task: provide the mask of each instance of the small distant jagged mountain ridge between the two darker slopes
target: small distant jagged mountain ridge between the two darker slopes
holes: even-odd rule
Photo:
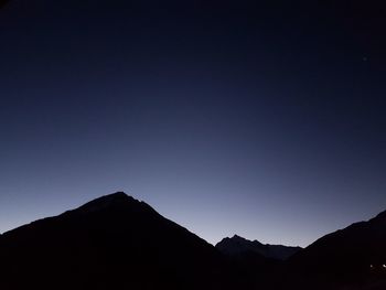
[[[240,256],[246,253],[255,253],[266,258],[286,260],[293,254],[301,250],[301,247],[288,247],[282,245],[261,244],[258,240],[248,240],[234,235],[232,238],[224,238],[216,246],[218,250],[229,256]]]

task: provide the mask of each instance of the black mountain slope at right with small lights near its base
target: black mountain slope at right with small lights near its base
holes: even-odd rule
[[[386,212],[325,235],[289,264],[304,288],[318,282],[321,289],[386,289]]]

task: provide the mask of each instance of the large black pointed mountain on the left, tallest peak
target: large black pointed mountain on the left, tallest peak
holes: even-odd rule
[[[125,193],[0,236],[1,289],[240,289],[210,244]]]

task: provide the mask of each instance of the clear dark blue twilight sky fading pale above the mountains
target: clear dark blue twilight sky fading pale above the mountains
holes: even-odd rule
[[[212,244],[386,210],[380,2],[10,1],[0,232],[116,191]]]

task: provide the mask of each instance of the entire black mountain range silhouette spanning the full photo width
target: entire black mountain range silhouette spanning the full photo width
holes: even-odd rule
[[[216,247],[118,192],[0,235],[0,288],[386,289],[386,212],[309,247]]]

